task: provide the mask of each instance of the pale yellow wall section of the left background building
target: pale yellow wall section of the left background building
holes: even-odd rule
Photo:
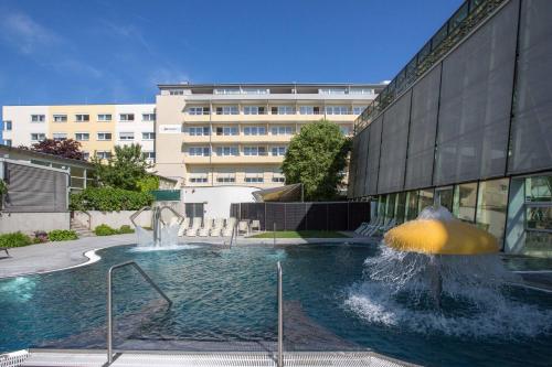
[[[76,122],[75,115],[87,114],[88,122]],[[110,114],[112,121],[98,121],[98,114]],[[67,115],[66,122],[54,122],[54,115]],[[82,150],[94,155],[95,151],[113,151],[116,142],[115,125],[117,121],[115,105],[75,105],[75,106],[50,106],[47,120],[47,134],[53,137],[55,132],[67,133],[67,139],[75,139],[75,132],[88,132],[89,140],[81,141]],[[110,141],[98,141],[98,132],[110,132]]]

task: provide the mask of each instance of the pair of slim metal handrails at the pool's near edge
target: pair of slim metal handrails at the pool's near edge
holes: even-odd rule
[[[172,305],[172,301],[169,296],[151,280],[151,278],[144,271],[142,268],[135,261],[127,261],[109,268],[107,272],[107,364],[113,363],[113,273],[115,270],[134,267],[140,276],[169,303],[169,307]],[[282,265],[278,261],[276,265],[276,274],[278,278],[277,285],[277,302],[278,302],[278,352],[276,365],[277,367],[284,367],[284,296],[283,296],[283,281],[282,281]]]

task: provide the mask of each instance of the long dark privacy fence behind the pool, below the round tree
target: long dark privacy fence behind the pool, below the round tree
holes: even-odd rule
[[[370,220],[368,202],[234,203],[230,215],[259,220],[262,230],[354,230]]]

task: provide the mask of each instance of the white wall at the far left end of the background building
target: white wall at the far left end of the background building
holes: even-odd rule
[[[44,115],[44,122],[31,122],[31,115]],[[50,133],[47,106],[3,106],[2,120],[11,121],[12,130],[2,131],[3,140],[11,140],[13,147],[34,143],[31,141],[31,133]]]

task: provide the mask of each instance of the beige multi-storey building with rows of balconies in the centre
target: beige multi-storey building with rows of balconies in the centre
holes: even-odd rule
[[[159,85],[156,171],[182,186],[285,184],[287,145],[322,118],[352,134],[384,84]]]

